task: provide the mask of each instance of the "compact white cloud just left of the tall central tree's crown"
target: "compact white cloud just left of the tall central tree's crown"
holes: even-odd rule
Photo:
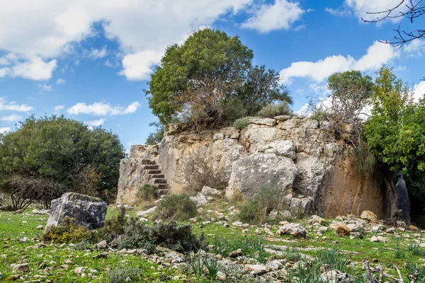
[[[135,81],[149,79],[152,66],[158,64],[164,52],[142,51],[135,54],[125,55],[123,58],[123,70],[118,74]]]

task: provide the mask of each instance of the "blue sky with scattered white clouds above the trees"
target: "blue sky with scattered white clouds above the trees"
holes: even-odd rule
[[[424,28],[425,16],[363,23],[399,0],[0,0],[0,131],[29,115],[66,115],[143,144],[154,116],[144,89],[167,45],[205,26],[239,35],[254,64],[280,72],[294,111],[326,96],[327,77],[382,64],[425,93],[425,39],[378,40]],[[401,21],[400,21],[401,20]]]

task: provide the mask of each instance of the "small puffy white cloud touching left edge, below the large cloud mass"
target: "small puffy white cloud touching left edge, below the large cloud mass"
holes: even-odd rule
[[[0,78],[10,76],[12,78],[21,77],[25,79],[32,79],[34,81],[45,81],[52,78],[52,72],[57,67],[56,59],[52,59],[50,62],[44,62],[40,57],[33,57],[32,59],[24,62],[9,61],[8,63],[13,64],[13,66],[1,68]]]

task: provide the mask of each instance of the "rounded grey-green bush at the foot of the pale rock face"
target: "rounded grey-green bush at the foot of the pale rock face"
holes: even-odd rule
[[[248,200],[240,207],[239,220],[250,224],[263,224],[278,222],[283,219],[283,216],[277,216],[276,219],[270,219],[268,214],[273,209],[281,212],[285,209],[284,191],[281,188],[263,188],[254,199]]]

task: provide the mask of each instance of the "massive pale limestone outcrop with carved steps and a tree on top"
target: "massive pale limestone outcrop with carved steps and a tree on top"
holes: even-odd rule
[[[244,129],[226,127],[198,134],[171,125],[157,156],[152,151],[132,146],[130,158],[121,162],[120,197],[131,199],[133,184],[145,182],[141,161],[148,157],[157,162],[171,192],[178,191],[185,186],[179,175],[182,164],[200,153],[215,171],[227,176],[226,197],[253,197],[263,187],[278,187],[293,215],[317,212],[332,217],[370,210],[380,218],[387,216],[380,178],[356,173],[353,149],[336,140],[326,122],[250,117]]]

